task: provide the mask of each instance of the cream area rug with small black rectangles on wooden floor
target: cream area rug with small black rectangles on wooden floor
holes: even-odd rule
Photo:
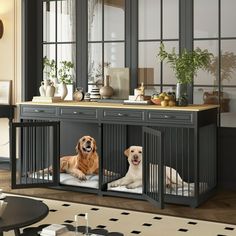
[[[120,232],[121,235],[126,236],[236,235],[236,225],[193,220],[181,217],[172,217],[160,214],[142,213],[94,205],[78,204],[73,202],[56,201],[50,199],[34,199],[43,201],[48,205],[50,211],[48,216],[44,220],[38,222],[32,227],[37,227],[44,224],[66,224],[73,228],[75,225],[75,215],[78,215],[79,225],[84,226],[86,225],[84,216],[85,213],[88,213],[89,226],[91,229],[103,229],[104,232]],[[7,232],[4,234],[4,236],[14,236],[14,234],[13,232]]]

